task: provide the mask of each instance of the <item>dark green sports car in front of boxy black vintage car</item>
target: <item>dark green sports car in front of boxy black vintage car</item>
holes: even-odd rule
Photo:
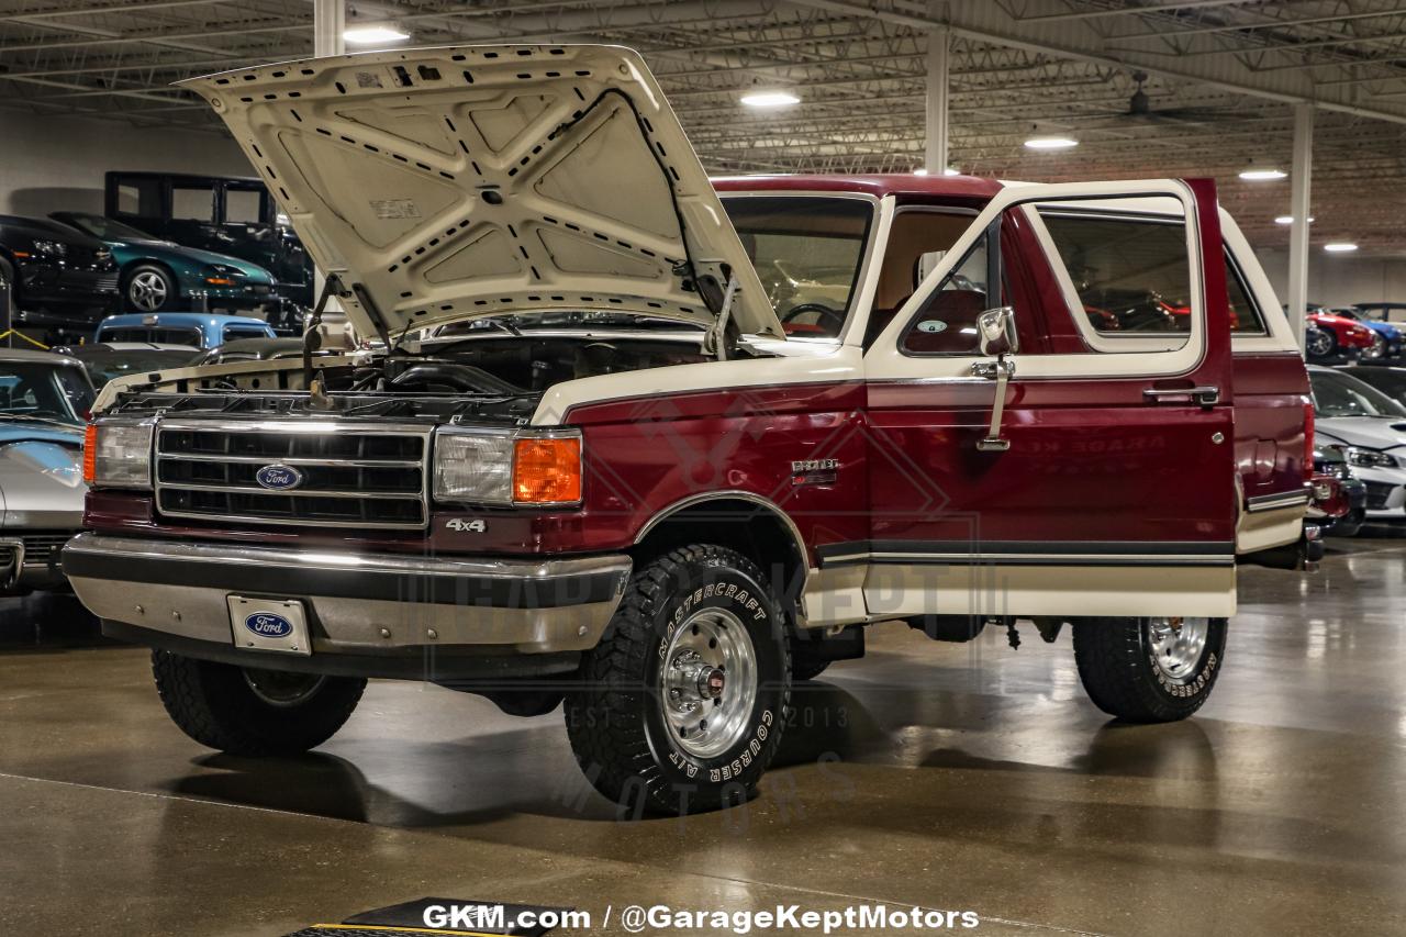
[[[209,250],[183,248],[120,221],[82,211],[49,215],[107,243],[121,270],[122,307],[129,312],[257,310],[281,312],[283,298],[271,273],[256,263]]]

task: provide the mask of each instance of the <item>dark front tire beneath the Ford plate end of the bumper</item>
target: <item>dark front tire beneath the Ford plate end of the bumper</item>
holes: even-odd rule
[[[366,681],[249,670],[152,651],[156,689],[181,732],[236,756],[316,748],[350,719]]]

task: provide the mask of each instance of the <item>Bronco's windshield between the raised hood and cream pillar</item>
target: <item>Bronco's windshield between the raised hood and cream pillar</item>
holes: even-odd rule
[[[853,305],[873,208],[859,198],[723,198],[756,276],[794,338],[838,338]]]

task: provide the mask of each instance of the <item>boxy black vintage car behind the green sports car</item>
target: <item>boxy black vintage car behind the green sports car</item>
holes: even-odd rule
[[[110,172],[104,214],[187,248],[257,263],[298,305],[312,304],[312,260],[257,179]],[[270,317],[273,321],[273,317]],[[274,324],[277,328],[277,324]]]

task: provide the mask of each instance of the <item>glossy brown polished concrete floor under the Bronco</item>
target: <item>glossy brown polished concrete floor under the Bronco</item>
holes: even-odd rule
[[[1178,725],[1109,723],[1067,636],[879,629],[797,691],[759,799],[686,820],[617,822],[560,712],[413,684],[374,682],[305,758],[212,754],[166,719],[143,651],[84,640],[62,601],[10,602],[0,934],[285,934],[426,895],[576,906],[610,934],[657,903],[1406,933],[1406,539],[1376,533],[1316,574],[1243,570],[1220,684]]]

